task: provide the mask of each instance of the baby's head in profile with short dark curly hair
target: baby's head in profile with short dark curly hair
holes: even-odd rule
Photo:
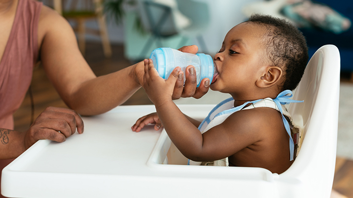
[[[253,15],[225,36],[214,57],[218,76],[211,89],[238,96],[268,93],[269,89],[263,88],[273,90],[271,95],[293,90],[308,59],[306,40],[294,25],[270,16]]]

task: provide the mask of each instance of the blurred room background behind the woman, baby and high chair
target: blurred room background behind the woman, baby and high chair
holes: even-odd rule
[[[158,47],[196,44],[214,56],[226,33],[252,13],[286,18],[307,38],[309,56],[325,44],[341,56],[337,160],[332,194],[353,198],[353,2],[351,0],[43,0],[74,28],[79,48],[97,76],[149,58]],[[337,65],[338,66],[338,65]],[[32,95],[16,112],[22,131],[47,106],[66,107],[44,70],[33,74]],[[217,104],[229,95],[209,91],[201,99],[176,103]],[[124,103],[152,104],[143,89]],[[28,112],[32,112],[29,114]]]

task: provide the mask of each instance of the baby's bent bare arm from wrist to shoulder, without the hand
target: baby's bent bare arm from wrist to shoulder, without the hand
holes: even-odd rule
[[[266,134],[262,133],[262,127],[268,118],[257,112],[256,109],[236,112],[220,125],[200,134],[174,103],[157,108],[170,139],[185,157],[195,161],[226,158],[264,140]]]

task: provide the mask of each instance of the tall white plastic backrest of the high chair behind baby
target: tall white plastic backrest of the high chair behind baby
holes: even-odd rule
[[[293,188],[297,188],[294,192],[297,196],[293,197],[330,197],[336,159],[339,83],[339,51],[334,45],[322,46],[309,60],[293,94],[293,99],[304,102],[288,107],[294,122],[303,129],[297,158],[279,176],[279,180],[293,179]]]

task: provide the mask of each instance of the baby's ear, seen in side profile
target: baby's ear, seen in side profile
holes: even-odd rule
[[[276,66],[265,67],[264,73],[256,81],[256,86],[261,88],[271,87],[280,81],[282,77],[282,69]]]

